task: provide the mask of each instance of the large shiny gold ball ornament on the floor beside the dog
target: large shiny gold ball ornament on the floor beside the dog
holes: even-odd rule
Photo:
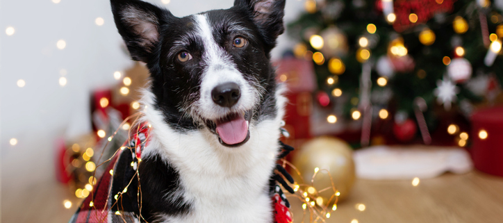
[[[302,145],[300,151],[293,158],[293,165],[297,167],[302,176],[292,175],[297,183],[302,184],[304,182],[306,185],[311,185],[315,168],[318,167],[319,171],[313,183],[314,188],[318,191],[332,187],[329,174],[325,171],[328,170],[336,190],[340,192],[339,200],[345,199],[349,195],[355,179],[352,153],[349,144],[339,138],[320,137],[309,140]],[[301,177],[304,181],[302,181]],[[306,188],[303,188],[303,190],[306,190]],[[319,196],[323,197],[324,202],[327,202],[332,195],[333,190],[331,189],[319,194]],[[331,203],[333,201],[335,201],[335,197]]]

